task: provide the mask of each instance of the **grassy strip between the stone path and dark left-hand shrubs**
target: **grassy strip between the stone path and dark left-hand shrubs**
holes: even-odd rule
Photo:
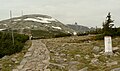
[[[27,52],[27,49],[31,46],[31,41],[28,40],[25,43],[25,46],[23,50],[19,53],[7,56],[5,59],[0,59],[0,64],[2,65],[2,68],[0,71],[12,71],[12,69],[16,68],[17,65],[19,65],[20,61],[23,59],[24,54]],[[17,63],[13,62],[11,59],[16,58]]]

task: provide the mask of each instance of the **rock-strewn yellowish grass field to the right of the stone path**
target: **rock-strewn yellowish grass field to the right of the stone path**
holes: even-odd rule
[[[91,36],[72,36],[72,37],[62,37],[62,38],[52,38],[43,39],[43,43],[46,44],[47,48],[50,50],[51,63],[56,63],[64,65],[65,69],[63,71],[68,71],[72,61],[77,61],[79,64],[74,64],[77,69],[80,70],[84,67],[88,67],[88,71],[110,71],[113,68],[120,67],[120,55],[107,57],[105,55],[99,54],[97,57],[99,64],[90,64],[94,57],[93,47],[98,46],[104,52],[104,41],[103,40],[93,40]],[[113,47],[120,48],[120,37],[113,39]],[[120,53],[120,52],[119,52]],[[56,55],[57,54],[57,55]],[[63,55],[64,54],[64,55]],[[80,57],[75,57],[80,55]],[[85,56],[88,55],[88,59]],[[66,59],[66,61],[58,61],[57,59]],[[112,62],[117,61],[117,65],[106,66],[106,61]],[[50,66],[51,71],[62,71],[55,66]]]

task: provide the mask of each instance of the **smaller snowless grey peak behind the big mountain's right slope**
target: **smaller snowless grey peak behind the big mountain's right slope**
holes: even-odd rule
[[[82,25],[77,25],[77,24],[67,24],[67,26],[73,30],[75,30],[76,32],[79,33],[84,33],[87,31],[90,31],[90,29],[86,26],[82,26]]]

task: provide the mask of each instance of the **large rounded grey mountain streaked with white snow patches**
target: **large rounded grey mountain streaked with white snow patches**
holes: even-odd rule
[[[73,29],[48,15],[31,14],[0,21],[0,29],[42,30],[47,32],[72,33]]]

